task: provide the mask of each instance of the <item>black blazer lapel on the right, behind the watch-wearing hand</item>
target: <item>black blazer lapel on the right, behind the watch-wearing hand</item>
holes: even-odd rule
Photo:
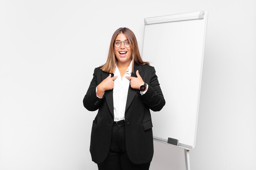
[[[131,74],[131,77],[137,77],[137,75],[136,75],[137,70],[139,70],[139,75],[143,79],[144,71],[142,71],[141,66],[137,65],[137,64],[134,64],[134,73]],[[128,107],[130,106],[130,104],[132,103],[132,100],[137,93],[138,93],[138,90],[131,88],[131,85],[129,85],[125,112],[128,109]]]

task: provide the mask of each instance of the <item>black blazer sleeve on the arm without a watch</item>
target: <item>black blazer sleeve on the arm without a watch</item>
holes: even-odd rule
[[[97,94],[96,94],[97,86],[98,86],[98,83],[97,83],[97,68],[95,68],[94,73],[93,73],[92,81],[90,83],[90,86],[87,90],[87,93],[86,93],[85,97],[83,98],[83,106],[89,111],[97,110],[99,108],[99,106],[101,105],[101,101],[105,97],[105,93],[102,96],[102,98],[97,97]]]

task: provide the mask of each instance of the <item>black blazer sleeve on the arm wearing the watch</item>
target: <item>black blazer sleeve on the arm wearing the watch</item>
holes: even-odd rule
[[[152,67],[150,82],[146,83],[148,90],[144,95],[141,95],[141,99],[151,110],[160,111],[165,105],[165,100],[154,67]]]

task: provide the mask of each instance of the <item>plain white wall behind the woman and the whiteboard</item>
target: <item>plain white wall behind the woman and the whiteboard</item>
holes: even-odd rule
[[[112,33],[144,18],[208,10],[191,170],[256,168],[255,0],[2,0],[0,169],[97,170],[89,153],[96,112],[82,99]],[[184,152],[155,142],[151,170],[184,169]]]

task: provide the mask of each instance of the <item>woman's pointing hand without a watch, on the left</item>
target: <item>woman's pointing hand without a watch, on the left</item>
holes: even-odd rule
[[[109,76],[97,86],[97,96],[102,97],[105,91],[112,90],[116,78],[117,76],[111,77],[111,74],[109,74]]]

